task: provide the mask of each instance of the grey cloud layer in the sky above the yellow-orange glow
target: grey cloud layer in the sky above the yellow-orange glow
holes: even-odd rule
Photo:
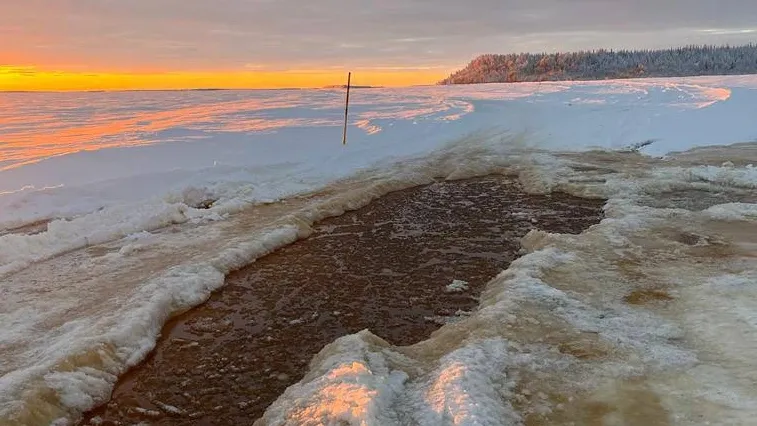
[[[750,41],[757,1],[26,0],[0,16],[0,28],[18,22],[115,63],[423,66],[487,51]]]

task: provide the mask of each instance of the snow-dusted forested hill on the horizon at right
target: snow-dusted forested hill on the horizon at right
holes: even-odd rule
[[[439,84],[757,74],[757,45],[482,55]]]

